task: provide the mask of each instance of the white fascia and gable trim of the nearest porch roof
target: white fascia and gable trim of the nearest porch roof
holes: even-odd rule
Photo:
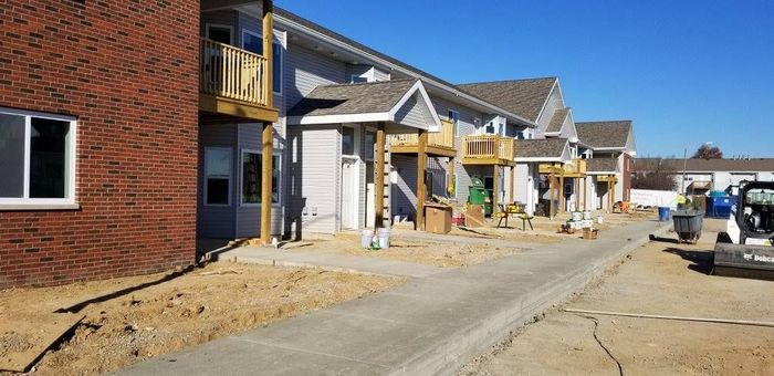
[[[432,124],[427,124],[425,126],[415,126],[402,124],[400,121],[396,119],[396,115],[400,108],[406,105],[415,94],[417,94],[417,101],[425,102],[428,108],[430,108],[430,115],[432,116]],[[441,118],[438,117],[438,113],[432,106],[430,96],[425,90],[421,81],[417,81],[405,94],[400,97],[393,108],[387,112],[375,112],[375,113],[357,113],[357,114],[335,114],[335,115],[304,115],[304,116],[289,116],[287,125],[320,125],[320,124],[342,124],[342,123],[390,123],[393,125],[404,126],[405,128],[414,128],[429,132],[440,132],[443,127]],[[396,130],[398,132],[398,130]]]

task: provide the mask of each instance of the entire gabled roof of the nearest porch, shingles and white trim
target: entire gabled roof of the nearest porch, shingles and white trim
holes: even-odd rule
[[[422,82],[417,79],[321,85],[287,112],[287,124],[401,123],[396,115],[415,95],[432,108]],[[423,128],[440,128],[436,111],[429,113],[431,124]]]

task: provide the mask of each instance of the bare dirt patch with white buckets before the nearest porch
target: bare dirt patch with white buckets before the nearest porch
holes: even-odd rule
[[[358,257],[384,258],[436,265],[440,268],[460,268],[502,258],[520,252],[517,248],[501,248],[491,244],[457,244],[431,240],[400,239],[393,236],[389,249],[367,250],[360,248],[360,234],[342,232],[330,240],[290,243],[289,251],[337,252]]]

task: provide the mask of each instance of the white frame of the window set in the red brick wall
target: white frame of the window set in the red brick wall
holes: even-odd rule
[[[70,210],[79,209],[75,201],[75,175],[77,168],[77,119],[73,116],[39,113],[34,111],[0,107],[0,113],[24,116],[24,176],[21,198],[0,198],[0,210]],[[64,198],[30,198],[30,157],[32,117],[70,123],[69,139],[65,145]]]

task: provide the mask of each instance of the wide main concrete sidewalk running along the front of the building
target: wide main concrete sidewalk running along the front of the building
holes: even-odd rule
[[[119,375],[450,374],[668,226],[638,222],[154,358]]]

